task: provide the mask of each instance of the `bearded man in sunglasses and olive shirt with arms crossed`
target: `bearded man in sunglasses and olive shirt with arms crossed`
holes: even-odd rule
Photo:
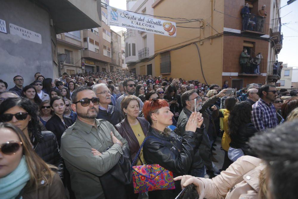
[[[128,148],[128,143],[111,123],[95,119],[99,99],[90,87],[78,87],[72,93],[72,102],[77,120],[61,138],[61,155],[72,190],[77,199],[105,198],[99,177],[116,165],[123,154],[122,146]]]

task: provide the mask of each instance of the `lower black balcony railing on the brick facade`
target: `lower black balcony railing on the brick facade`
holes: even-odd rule
[[[240,57],[240,72],[238,75],[257,76],[262,75],[264,59],[256,57]]]

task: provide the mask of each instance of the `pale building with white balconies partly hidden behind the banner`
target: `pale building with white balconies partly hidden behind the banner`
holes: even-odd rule
[[[153,15],[154,0],[127,0],[127,10]],[[127,29],[124,33],[125,63],[128,70],[140,75],[155,74],[154,34]]]

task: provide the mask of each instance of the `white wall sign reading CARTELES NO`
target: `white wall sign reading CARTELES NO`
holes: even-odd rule
[[[23,39],[33,41],[35,43],[41,44],[41,34],[35,33],[26,28],[19,27],[15,24],[9,24],[10,34],[20,36]]]

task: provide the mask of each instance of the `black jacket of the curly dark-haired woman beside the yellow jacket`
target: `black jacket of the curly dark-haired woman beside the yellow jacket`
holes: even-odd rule
[[[235,149],[242,149],[244,155],[251,155],[249,153],[249,146],[246,144],[249,138],[252,137],[257,132],[257,129],[252,123],[248,123],[243,127],[238,129],[237,134],[231,134],[230,146]]]

